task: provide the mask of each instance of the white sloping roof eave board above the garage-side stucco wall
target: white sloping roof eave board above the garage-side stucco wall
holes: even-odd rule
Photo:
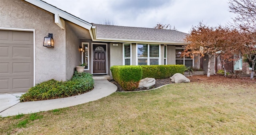
[[[68,20],[72,23],[75,23],[81,27],[84,27],[85,29],[90,30],[92,27],[91,23],[88,23],[80,18],[77,18],[76,16],[73,16],[71,14],[68,14],[67,12],[64,12],[63,10],[60,10],[46,2],[43,2],[41,0],[25,0],[26,2],[29,2],[35,6],[38,6],[39,8],[42,8],[48,12],[51,12],[55,16],[59,16],[61,18],[64,18],[65,20]],[[55,17],[56,19],[56,17]],[[58,20],[55,20],[55,22],[59,22]]]

